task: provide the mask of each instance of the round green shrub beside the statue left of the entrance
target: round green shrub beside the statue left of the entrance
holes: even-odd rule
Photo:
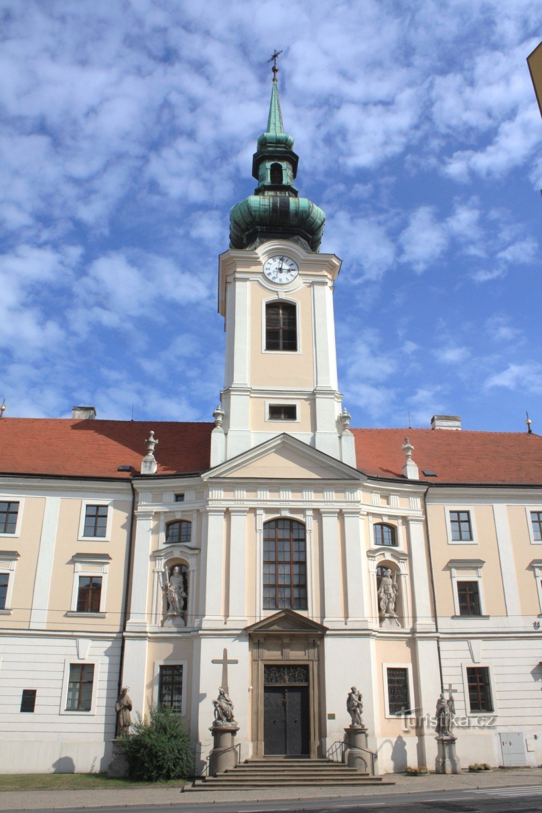
[[[149,703],[149,715],[133,723],[133,733],[120,740],[130,776],[144,782],[186,779],[193,762],[190,739],[181,717],[169,706]]]

